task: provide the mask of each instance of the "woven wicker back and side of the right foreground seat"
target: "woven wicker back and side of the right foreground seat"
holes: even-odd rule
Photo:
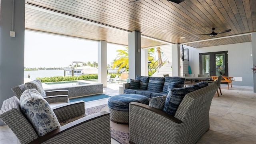
[[[185,95],[174,116],[145,104],[129,104],[132,144],[195,144],[210,128],[209,110],[218,89],[210,85]]]

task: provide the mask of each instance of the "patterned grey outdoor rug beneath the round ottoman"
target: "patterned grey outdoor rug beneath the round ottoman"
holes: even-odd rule
[[[108,104],[85,109],[85,113],[89,115],[102,111],[108,112]],[[120,144],[129,144],[128,124],[117,124],[110,120],[110,134],[111,137],[118,141]]]

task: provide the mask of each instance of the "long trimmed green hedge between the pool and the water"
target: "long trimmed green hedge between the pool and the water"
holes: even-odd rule
[[[111,74],[110,78],[115,78],[116,75],[120,74]],[[41,82],[62,82],[62,81],[72,81],[72,80],[94,80],[98,79],[98,74],[89,74],[82,76],[53,76],[46,78],[36,78],[37,80],[41,80]]]

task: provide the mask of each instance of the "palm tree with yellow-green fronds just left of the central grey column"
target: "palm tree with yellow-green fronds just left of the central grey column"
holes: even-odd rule
[[[125,70],[128,70],[129,68],[128,46],[125,48],[125,50],[116,50],[118,54],[116,56],[116,61],[113,63],[112,69],[119,66],[117,72],[119,72],[121,68],[125,68]]]

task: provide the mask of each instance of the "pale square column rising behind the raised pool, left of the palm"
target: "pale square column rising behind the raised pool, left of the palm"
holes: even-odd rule
[[[98,82],[107,86],[107,42],[98,42]]]

